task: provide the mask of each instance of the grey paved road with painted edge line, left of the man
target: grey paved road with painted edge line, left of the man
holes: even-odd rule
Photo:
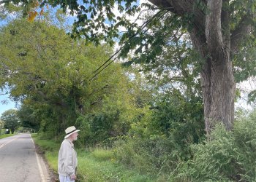
[[[48,170],[29,134],[0,140],[0,182],[47,182]]]

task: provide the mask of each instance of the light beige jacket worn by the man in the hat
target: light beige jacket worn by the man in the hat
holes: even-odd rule
[[[78,166],[78,157],[74,144],[69,139],[64,139],[59,149],[58,172],[59,175],[70,176],[75,174]]]

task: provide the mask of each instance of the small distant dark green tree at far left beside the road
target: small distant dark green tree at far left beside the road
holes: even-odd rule
[[[17,110],[9,109],[1,114],[1,120],[4,121],[4,127],[11,130],[12,134],[19,126]]]

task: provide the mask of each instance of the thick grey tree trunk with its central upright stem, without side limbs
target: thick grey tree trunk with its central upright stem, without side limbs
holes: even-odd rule
[[[208,0],[207,6],[211,11],[206,15],[207,55],[203,55],[206,63],[201,81],[206,133],[209,134],[219,122],[227,130],[232,129],[236,84],[230,61],[229,15],[222,8],[222,0]]]

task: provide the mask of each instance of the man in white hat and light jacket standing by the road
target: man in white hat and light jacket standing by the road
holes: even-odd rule
[[[78,139],[78,132],[74,126],[68,127],[66,136],[59,149],[58,172],[60,182],[74,182],[76,179],[75,169],[78,165],[77,153],[73,141]]]

